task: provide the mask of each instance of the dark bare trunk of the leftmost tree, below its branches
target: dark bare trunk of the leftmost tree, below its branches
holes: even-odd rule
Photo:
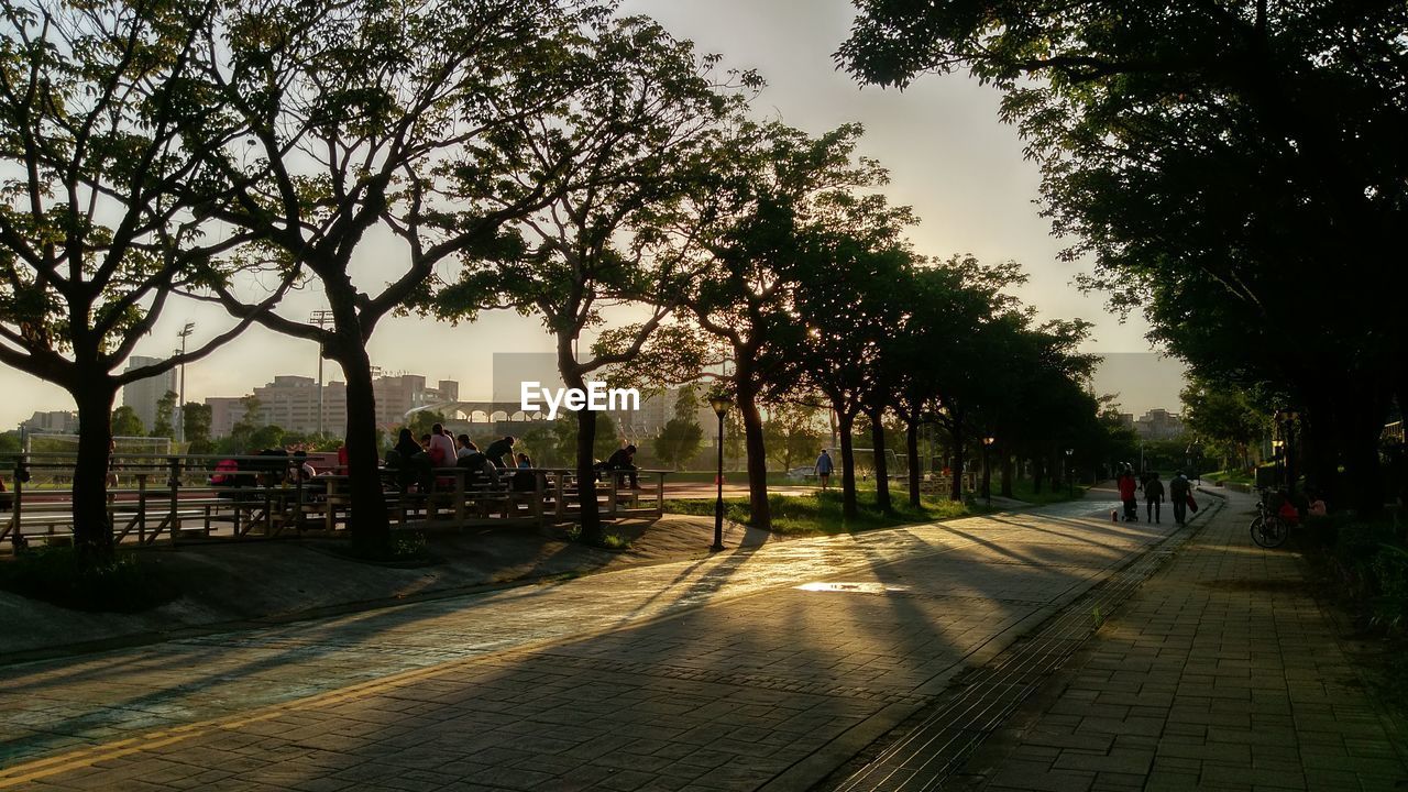
[[[86,378],[70,390],[79,407],[79,452],[73,465],[73,545],[79,558],[101,562],[113,555],[107,516],[107,466],[113,443],[117,386],[107,376]]]

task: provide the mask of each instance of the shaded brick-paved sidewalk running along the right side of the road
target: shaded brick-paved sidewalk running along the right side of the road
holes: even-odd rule
[[[1286,550],[1229,506],[1117,612],[960,786],[1405,789],[1381,717]]]

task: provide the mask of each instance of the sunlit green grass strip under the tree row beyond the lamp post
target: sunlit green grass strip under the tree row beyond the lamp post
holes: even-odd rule
[[[932,523],[953,517],[967,517],[986,513],[983,506],[969,506],[953,500],[925,497],[921,509],[910,506],[904,490],[891,492],[894,510],[884,513],[876,507],[874,489],[856,492],[860,507],[853,520],[841,514],[841,490],[815,492],[811,495],[770,495],[767,503],[773,513],[773,531],[779,534],[843,534],[873,528],[888,528],[905,523]],[[712,500],[666,500],[665,510],[674,514],[714,514]],[[724,499],[724,513],[729,520],[748,523],[750,513],[746,497]]]

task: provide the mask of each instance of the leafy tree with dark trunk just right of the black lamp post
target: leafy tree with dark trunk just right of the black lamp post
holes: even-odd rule
[[[772,526],[762,404],[781,400],[781,383],[791,379],[783,349],[798,342],[797,317],[804,316],[793,293],[798,231],[828,196],[886,182],[874,161],[855,156],[860,134],[857,124],[817,138],[780,123],[738,124],[712,151],[708,189],[690,197],[689,233],[673,235],[676,245],[701,251],[686,304],[705,340],[670,338],[669,345],[700,355],[696,371],[708,371],[719,357],[728,364],[727,375],[714,376],[728,383],[742,419],[749,514],[760,528]],[[836,316],[804,318],[831,323]],[[655,352],[669,358],[669,349]]]

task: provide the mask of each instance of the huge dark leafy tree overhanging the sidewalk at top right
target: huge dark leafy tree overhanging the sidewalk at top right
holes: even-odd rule
[[[1408,323],[1383,289],[1408,224],[1408,7],[860,6],[855,73],[967,68],[1001,89],[1090,283],[1143,307],[1195,373],[1300,404],[1357,509],[1383,506],[1377,437],[1408,393]]]

